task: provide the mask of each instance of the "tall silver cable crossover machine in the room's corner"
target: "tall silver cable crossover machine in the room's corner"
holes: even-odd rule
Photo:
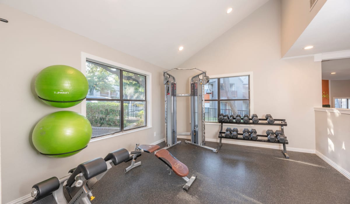
[[[190,94],[176,94],[176,80],[173,75],[169,73],[171,70],[193,70],[196,69],[201,73],[191,78],[191,93]],[[165,128],[166,148],[173,145],[180,144],[177,141],[176,132],[176,97],[191,97],[191,141],[185,143],[193,144],[198,147],[210,149],[213,152],[218,152],[217,149],[205,146],[205,124],[204,124],[204,84],[209,82],[209,76],[205,71],[197,68],[180,69],[173,68],[164,72],[165,85]]]

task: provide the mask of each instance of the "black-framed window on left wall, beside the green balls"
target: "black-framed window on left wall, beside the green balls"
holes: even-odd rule
[[[146,126],[146,76],[87,60],[86,78],[92,138]]]

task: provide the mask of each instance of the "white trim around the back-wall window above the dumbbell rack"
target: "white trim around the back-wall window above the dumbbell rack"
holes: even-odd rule
[[[254,89],[253,89],[253,72],[238,72],[238,73],[227,73],[222,75],[208,75],[209,80],[214,78],[226,78],[226,77],[239,77],[249,75],[249,106],[250,113],[254,113]],[[219,97],[219,96],[218,96]],[[217,124],[221,125],[219,122],[205,122],[205,124]],[[245,125],[245,126],[254,126],[254,125]]]

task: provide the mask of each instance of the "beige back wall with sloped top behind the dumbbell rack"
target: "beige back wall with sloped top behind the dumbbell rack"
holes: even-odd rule
[[[179,67],[197,67],[209,76],[253,72],[253,113],[286,119],[287,147],[314,150],[313,107],[322,105],[321,62],[314,62],[313,57],[280,59],[280,10],[279,0],[268,1]],[[193,73],[177,71],[174,75],[177,87],[186,86],[188,90],[188,77]],[[177,110],[177,132],[190,132],[188,100],[179,100]],[[238,128],[241,131],[245,127]],[[253,128],[262,133],[275,126]],[[207,139],[218,139],[218,131],[218,124],[205,126]]]

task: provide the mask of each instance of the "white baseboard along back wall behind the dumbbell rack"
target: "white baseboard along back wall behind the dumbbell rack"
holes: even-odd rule
[[[184,135],[179,135],[177,136],[178,138],[183,138],[183,139],[191,139],[191,136],[184,136]],[[212,139],[212,138],[206,138],[205,139],[208,142],[219,142],[219,139]],[[280,144],[271,144],[271,143],[266,143],[266,142],[242,142],[239,140],[221,140],[222,143],[227,143],[227,144],[234,144],[234,145],[244,145],[244,146],[252,146],[252,147],[263,147],[263,148],[271,148],[271,149],[283,149],[283,146]],[[266,143],[266,144],[265,144]],[[288,147],[288,151],[292,152],[304,152],[304,153],[312,153],[315,154],[314,149],[303,149],[303,148],[296,148],[296,147]]]

